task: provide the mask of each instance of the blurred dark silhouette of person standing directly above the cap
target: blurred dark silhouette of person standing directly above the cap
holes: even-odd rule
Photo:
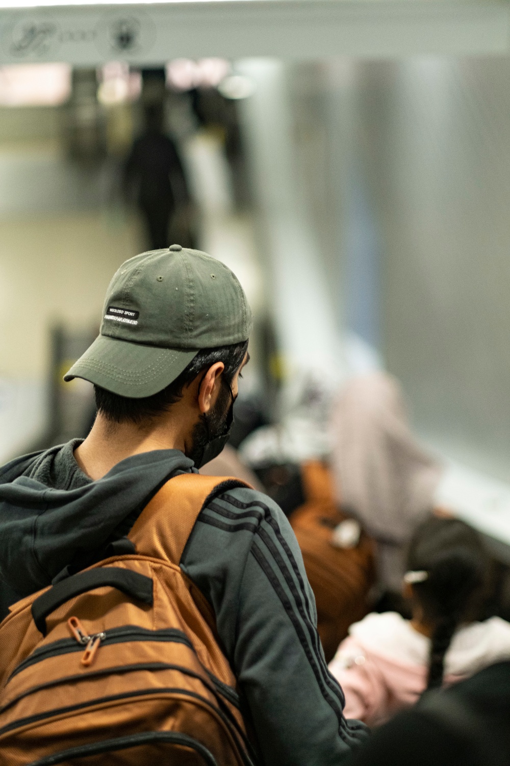
[[[136,139],[126,162],[125,187],[128,193],[135,190],[149,248],[167,247],[175,214],[185,219],[190,211],[190,193],[176,146],[164,133],[162,103],[145,106],[145,133]],[[187,231],[179,231],[176,238],[193,247],[189,225],[181,228]]]

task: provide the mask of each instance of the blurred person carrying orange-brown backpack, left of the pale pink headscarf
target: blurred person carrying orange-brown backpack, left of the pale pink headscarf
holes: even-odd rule
[[[323,376],[294,372],[280,423],[258,428],[241,451],[294,529],[327,661],[349,625],[369,610],[375,570],[372,542],[350,509],[337,502],[326,463],[332,388],[337,385],[331,377],[327,371]]]

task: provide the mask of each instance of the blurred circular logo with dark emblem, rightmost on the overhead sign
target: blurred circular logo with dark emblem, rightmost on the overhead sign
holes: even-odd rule
[[[97,27],[97,46],[106,56],[145,54],[151,50],[156,38],[156,28],[152,19],[137,12],[107,16]]]

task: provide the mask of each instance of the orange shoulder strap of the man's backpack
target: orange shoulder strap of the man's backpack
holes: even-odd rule
[[[249,484],[230,476],[181,473],[165,483],[145,506],[128,538],[136,552],[179,565],[200,511],[210,496]]]

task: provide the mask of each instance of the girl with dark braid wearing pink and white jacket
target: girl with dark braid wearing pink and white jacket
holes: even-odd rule
[[[379,725],[425,689],[449,685],[510,659],[510,623],[479,622],[489,557],[458,519],[431,517],[408,549],[404,595],[412,618],[368,614],[349,628],[330,663],[346,696],[344,715]]]

